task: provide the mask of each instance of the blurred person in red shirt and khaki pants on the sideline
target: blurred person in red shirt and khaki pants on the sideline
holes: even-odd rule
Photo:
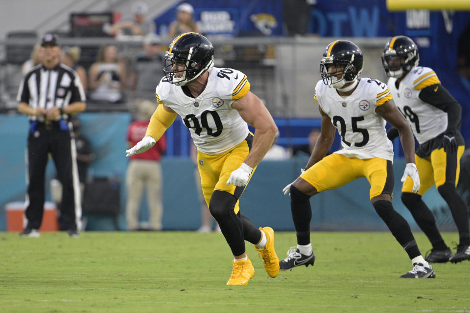
[[[156,109],[151,101],[142,101],[138,106],[139,119],[127,129],[129,147],[135,146],[145,136],[150,117]],[[126,173],[127,203],[126,222],[128,230],[139,230],[139,211],[143,189],[146,189],[149,206],[150,230],[162,229],[162,167],[160,158],[166,151],[166,138],[162,136],[157,143],[144,153],[130,157]]]

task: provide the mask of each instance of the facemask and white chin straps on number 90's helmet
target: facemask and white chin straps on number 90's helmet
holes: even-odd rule
[[[165,77],[169,83],[175,84],[176,86],[184,86],[188,82],[193,81],[194,79],[201,76],[209,68],[213,67],[213,56],[211,60],[206,64],[205,67],[201,67],[201,64],[196,63],[191,60],[193,48],[189,48],[187,58],[177,58],[174,53],[166,51],[165,52],[165,67],[163,69]],[[173,66],[176,63],[181,63],[185,65],[185,68],[182,70],[173,70]],[[199,65],[199,67],[198,67]],[[181,77],[175,77],[175,73],[181,73]]]

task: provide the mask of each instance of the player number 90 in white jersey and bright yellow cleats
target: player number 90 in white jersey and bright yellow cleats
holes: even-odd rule
[[[145,137],[127,156],[146,151],[180,115],[197,147],[204,198],[234,255],[227,285],[246,285],[254,268],[245,240],[254,244],[271,277],[279,273],[271,227],[257,228],[240,213],[238,199],[277,132],[271,114],[250,91],[242,72],[213,67],[214,49],[206,37],[185,33],[165,54],[165,77],[156,88],[160,104]],[[256,130],[248,131],[248,125]],[[190,173],[189,173],[190,174]]]

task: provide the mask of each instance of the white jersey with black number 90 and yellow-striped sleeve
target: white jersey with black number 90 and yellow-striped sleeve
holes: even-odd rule
[[[250,90],[245,74],[231,68],[212,67],[206,88],[196,98],[163,78],[155,90],[157,102],[181,116],[197,149],[219,155],[245,140],[248,125],[232,103]]]

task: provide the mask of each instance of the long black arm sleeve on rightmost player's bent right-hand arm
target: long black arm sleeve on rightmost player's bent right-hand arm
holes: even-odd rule
[[[447,130],[458,130],[462,118],[462,107],[441,84],[421,89],[421,100],[447,113]]]

